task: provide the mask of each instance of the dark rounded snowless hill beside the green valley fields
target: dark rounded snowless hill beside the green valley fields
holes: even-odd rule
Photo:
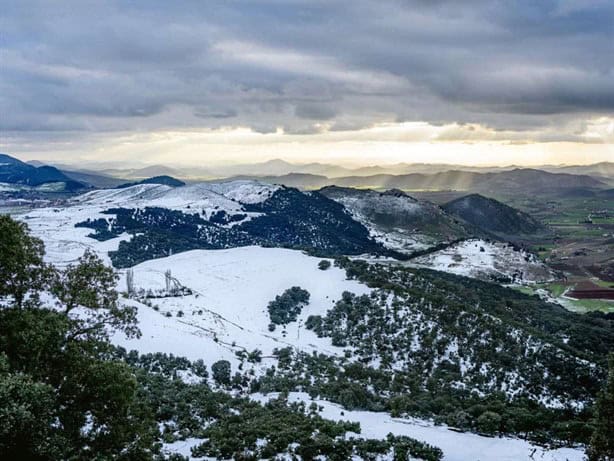
[[[479,194],[458,198],[442,208],[465,222],[499,235],[531,235],[548,231],[528,214]]]

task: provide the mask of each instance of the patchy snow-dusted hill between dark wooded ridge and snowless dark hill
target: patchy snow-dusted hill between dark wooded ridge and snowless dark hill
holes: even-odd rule
[[[345,206],[382,244],[412,252],[473,235],[439,206],[399,190],[377,192],[329,186],[319,191]]]

